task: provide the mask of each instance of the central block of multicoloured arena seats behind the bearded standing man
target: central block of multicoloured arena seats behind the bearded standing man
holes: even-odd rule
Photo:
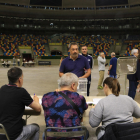
[[[67,46],[70,42],[77,42],[80,46],[85,44],[88,47],[93,47],[94,55],[99,55],[101,51],[108,55],[110,46],[115,44],[115,39],[112,39],[111,36],[63,36],[57,41]]]

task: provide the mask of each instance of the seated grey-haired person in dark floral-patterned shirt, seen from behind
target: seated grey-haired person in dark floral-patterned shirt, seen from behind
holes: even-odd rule
[[[81,120],[77,111],[59,93],[61,91],[70,98],[83,114],[88,108],[86,100],[77,91],[78,77],[73,73],[66,73],[60,78],[60,89],[45,94],[42,106],[45,114],[46,127],[74,127],[80,126]],[[88,137],[88,136],[87,136]],[[75,138],[74,138],[75,139]],[[82,138],[77,138],[78,140]],[[49,138],[49,140],[55,140]],[[68,140],[68,139],[67,139]]]

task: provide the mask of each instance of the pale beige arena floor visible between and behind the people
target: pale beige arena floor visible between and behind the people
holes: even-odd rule
[[[23,87],[31,94],[34,93],[36,95],[44,95],[47,92],[54,91],[58,87],[57,80],[59,79],[59,66],[35,66],[35,67],[21,67],[23,70],[24,81]],[[0,74],[0,86],[7,84],[7,71],[9,68],[1,67]],[[106,67],[105,77],[107,77],[108,67]],[[124,78],[125,76],[120,76],[118,79],[121,84],[121,94],[124,94]],[[91,96],[104,96],[103,90],[98,90],[98,67],[94,66],[92,70],[92,81],[90,88]],[[126,86],[126,93],[128,93],[128,81]],[[135,100],[140,103],[140,92],[137,92]],[[88,121],[88,120],[87,120]],[[140,121],[140,119],[134,119],[135,122]],[[31,116],[28,119],[28,124],[30,123],[38,123],[40,125],[40,140],[42,140],[42,134],[45,129],[45,121],[43,112],[40,116]],[[95,136],[95,128],[91,129],[91,127],[87,124],[86,127],[90,132],[89,140],[97,140]]]

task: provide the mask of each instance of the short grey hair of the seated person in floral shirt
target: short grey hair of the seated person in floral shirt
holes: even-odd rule
[[[59,82],[60,87],[71,86],[73,83],[78,83],[78,77],[74,73],[65,73]]]

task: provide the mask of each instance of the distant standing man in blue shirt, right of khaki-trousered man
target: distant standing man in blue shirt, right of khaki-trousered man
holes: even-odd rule
[[[117,78],[116,69],[117,69],[117,58],[115,57],[115,53],[112,52],[111,53],[110,66],[109,66],[109,69],[108,69],[109,77]]]

